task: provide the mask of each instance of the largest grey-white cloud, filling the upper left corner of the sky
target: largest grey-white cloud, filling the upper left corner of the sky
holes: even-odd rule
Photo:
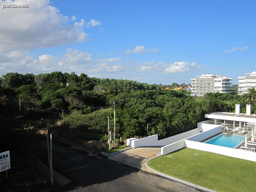
[[[14,0],[13,3],[23,3]],[[0,6],[9,1],[0,1]],[[55,47],[84,41],[84,20],[70,23],[76,16],[67,17],[49,0],[26,0],[28,8],[0,11],[0,44],[6,51]],[[95,23],[94,23],[95,24]],[[97,22],[96,22],[97,24]]]

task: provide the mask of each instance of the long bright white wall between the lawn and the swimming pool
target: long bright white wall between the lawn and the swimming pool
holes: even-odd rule
[[[256,162],[255,152],[239,150],[236,148],[223,147],[219,145],[212,145],[208,143],[200,143],[192,140],[184,140],[184,142],[185,142],[184,145],[186,145],[187,148],[193,148],[201,151],[208,151],[211,153],[217,153],[217,154],[226,155],[229,157],[236,157],[239,159]]]

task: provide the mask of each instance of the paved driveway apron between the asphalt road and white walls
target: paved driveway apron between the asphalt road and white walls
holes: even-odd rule
[[[137,169],[142,169],[146,172],[151,172],[146,167],[146,161],[156,157],[158,153],[161,152],[161,148],[155,147],[142,147],[142,148],[134,148],[127,151],[123,151],[121,153],[113,154],[108,157],[111,160],[117,161],[119,163],[135,167]]]

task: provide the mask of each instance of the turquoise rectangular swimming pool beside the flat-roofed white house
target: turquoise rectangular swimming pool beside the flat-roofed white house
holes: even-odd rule
[[[242,142],[244,142],[244,136],[242,135],[220,134],[210,140],[207,140],[204,143],[235,148],[237,145],[240,145]]]

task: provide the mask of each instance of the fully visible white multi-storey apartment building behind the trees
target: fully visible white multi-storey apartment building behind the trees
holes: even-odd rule
[[[225,76],[203,74],[191,78],[191,93],[197,96],[204,96],[207,93],[231,93],[232,78]]]

